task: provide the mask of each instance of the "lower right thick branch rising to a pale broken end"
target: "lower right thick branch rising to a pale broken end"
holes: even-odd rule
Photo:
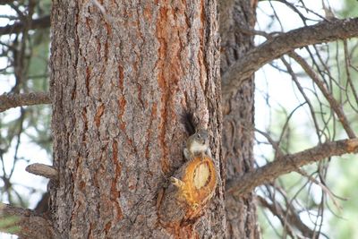
[[[243,195],[251,192],[255,187],[276,179],[280,175],[286,175],[324,158],[340,156],[346,153],[358,151],[358,139],[345,141],[329,141],[311,149],[306,149],[295,154],[287,154],[278,157],[277,160],[261,166],[252,172],[244,174],[226,183],[226,192],[235,195]]]

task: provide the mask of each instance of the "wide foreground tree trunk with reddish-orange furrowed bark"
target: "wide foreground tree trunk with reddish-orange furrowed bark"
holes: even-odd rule
[[[211,132],[216,194],[184,238],[226,231],[217,3],[53,1],[57,238],[170,238],[158,192],[183,165],[183,113]],[[110,21],[109,21],[110,20]]]

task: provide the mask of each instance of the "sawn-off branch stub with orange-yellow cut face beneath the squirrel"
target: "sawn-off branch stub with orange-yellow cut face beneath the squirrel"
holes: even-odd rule
[[[198,156],[180,167],[158,204],[160,223],[165,227],[192,225],[203,214],[217,186],[212,158]],[[159,192],[160,193],[160,192]]]

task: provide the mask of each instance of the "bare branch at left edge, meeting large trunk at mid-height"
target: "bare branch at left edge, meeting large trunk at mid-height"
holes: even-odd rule
[[[0,96],[0,112],[12,107],[33,106],[51,104],[51,98],[47,92],[32,92],[23,94],[4,94]]]

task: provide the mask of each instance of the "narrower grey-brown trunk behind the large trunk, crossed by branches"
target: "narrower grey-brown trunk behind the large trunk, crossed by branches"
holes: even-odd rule
[[[240,26],[255,24],[255,1],[226,0],[220,3],[221,73],[253,47],[252,37],[243,35]],[[250,172],[253,168],[253,81],[245,81],[232,94],[223,95],[223,149],[226,179]],[[236,198],[226,195],[228,238],[260,238],[256,202],[252,193]]]

